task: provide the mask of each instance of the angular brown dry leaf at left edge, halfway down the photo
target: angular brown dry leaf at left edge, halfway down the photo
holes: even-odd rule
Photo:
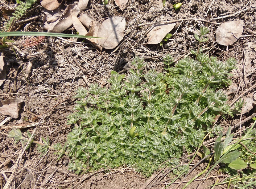
[[[22,102],[23,99],[20,98],[10,98],[8,100],[0,99],[1,114],[9,115],[10,117],[17,119],[19,117],[19,110]]]

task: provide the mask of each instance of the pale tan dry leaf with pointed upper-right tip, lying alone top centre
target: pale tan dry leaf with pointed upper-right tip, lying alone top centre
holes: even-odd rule
[[[147,34],[148,44],[158,44],[163,38],[175,27],[175,23],[172,24],[157,24]]]

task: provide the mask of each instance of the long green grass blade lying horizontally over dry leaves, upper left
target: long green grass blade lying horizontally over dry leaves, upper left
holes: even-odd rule
[[[47,32],[1,32],[0,37],[9,36],[51,36],[51,37],[78,37],[78,38],[101,38],[84,35],[72,35],[65,33],[47,33]]]

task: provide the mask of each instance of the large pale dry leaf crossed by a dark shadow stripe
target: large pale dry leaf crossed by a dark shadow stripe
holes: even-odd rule
[[[97,32],[97,37],[103,37],[103,39],[97,39],[101,47],[115,48],[124,37],[125,23],[124,17],[111,17],[105,20]]]

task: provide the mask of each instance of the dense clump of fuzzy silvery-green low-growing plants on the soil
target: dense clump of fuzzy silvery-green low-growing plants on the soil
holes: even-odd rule
[[[92,84],[77,90],[76,112],[68,116],[74,124],[62,147],[68,152],[68,167],[76,173],[88,169],[134,165],[150,176],[160,164],[177,163],[184,152],[192,152],[212,127],[215,115],[231,114],[226,95],[219,89],[229,83],[236,61],[225,62],[200,53],[196,60],[184,58],[167,73],[143,74],[146,65],[135,57],[135,70],[120,75],[111,72],[109,87]]]

